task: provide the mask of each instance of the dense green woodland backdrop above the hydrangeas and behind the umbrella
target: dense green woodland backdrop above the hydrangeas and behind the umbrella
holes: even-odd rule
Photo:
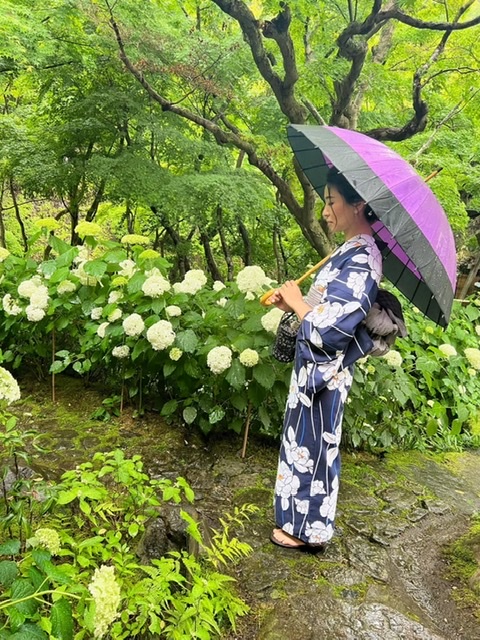
[[[431,186],[475,275],[479,13],[474,0],[2,0],[0,245],[27,251],[39,224],[77,244],[96,221],[150,237],[173,277],[296,275],[334,239],[286,126],[325,123],[441,169]]]

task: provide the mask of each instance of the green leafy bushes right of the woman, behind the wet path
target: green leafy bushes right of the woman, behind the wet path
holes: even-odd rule
[[[478,300],[455,302],[446,330],[408,303],[404,313],[409,336],[397,340],[401,364],[389,365],[391,353],[357,364],[345,415],[347,441],[374,450],[478,447]]]

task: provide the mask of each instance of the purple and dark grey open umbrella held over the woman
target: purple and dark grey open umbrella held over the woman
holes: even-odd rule
[[[322,198],[333,165],[370,205],[384,275],[428,318],[445,327],[455,292],[455,242],[425,180],[389,147],[357,131],[290,125],[288,139]]]

